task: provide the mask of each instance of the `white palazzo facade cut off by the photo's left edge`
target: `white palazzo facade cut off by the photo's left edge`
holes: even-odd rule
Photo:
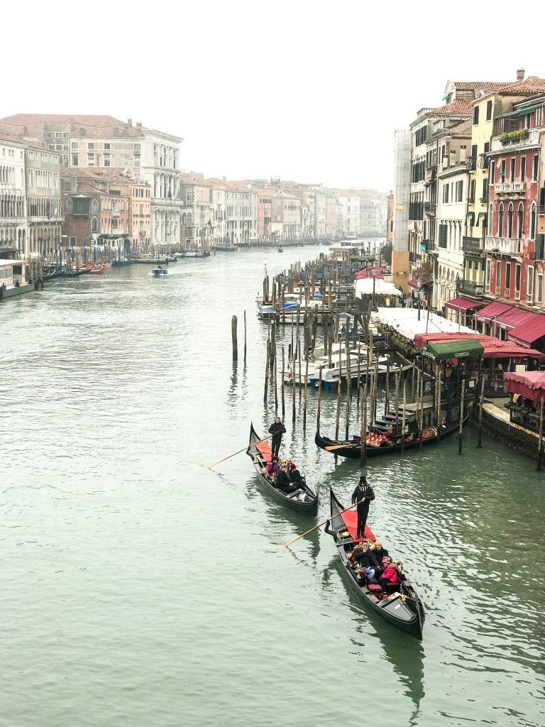
[[[25,142],[0,127],[0,258],[27,254]]]

